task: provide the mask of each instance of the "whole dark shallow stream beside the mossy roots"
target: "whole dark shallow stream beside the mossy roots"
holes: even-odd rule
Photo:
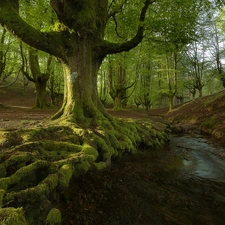
[[[201,135],[126,155],[74,180],[64,225],[225,225],[224,147]]]

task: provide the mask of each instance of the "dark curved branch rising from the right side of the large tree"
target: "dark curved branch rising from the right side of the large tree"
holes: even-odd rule
[[[111,43],[108,41],[104,41],[102,44],[101,48],[101,53],[104,56],[107,54],[115,54],[115,53],[120,53],[123,51],[129,51],[132,48],[135,48],[143,39],[143,34],[144,34],[144,24],[143,22],[145,21],[147,9],[149,5],[153,4],[155,0],[146,0],[144,3],[144,6],[141,10],[140,17],[139,17],[139,26],[136,35],[129,41],[123,42],[123,43]]]

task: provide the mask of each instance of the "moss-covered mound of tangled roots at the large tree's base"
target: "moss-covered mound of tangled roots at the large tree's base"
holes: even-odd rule
[[[0,224],[61,224],[57,204],[72,177],[103,169],[140,146],[160,148],[168,141],[161,123],[112,118],[98,124],[0,133]]]

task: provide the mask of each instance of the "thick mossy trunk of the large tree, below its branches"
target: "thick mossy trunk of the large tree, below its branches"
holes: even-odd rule
[[[97,73],[101,61],[95,58],[90,44],[79,44],[79,50],[64,65],[63,105],[53,119],[60,117],[79,124],[106,114],[97,92]]]

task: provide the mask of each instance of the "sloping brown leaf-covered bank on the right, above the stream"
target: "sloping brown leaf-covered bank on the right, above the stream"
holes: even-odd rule
[[[185,103],[167,114],[170,123],[182,131],[184,124],[193,124],[213,137],[225,138],[225,91]],[[190,128],[190,127],[189,127]]]

